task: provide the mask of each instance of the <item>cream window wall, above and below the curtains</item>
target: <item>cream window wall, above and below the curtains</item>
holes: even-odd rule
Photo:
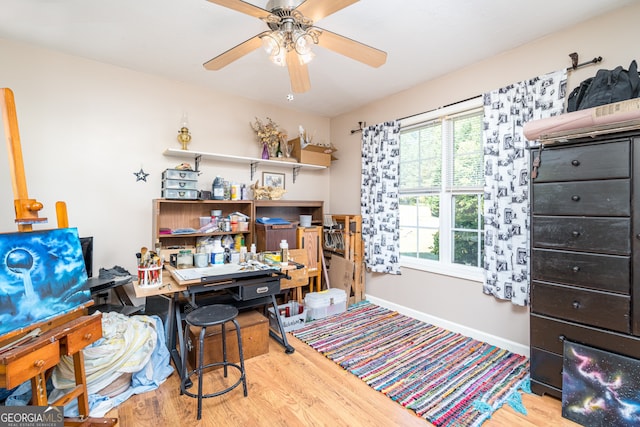
[[[636,3],[332,119],[331,140],[340,153],[340,162],[331,170],[332,210],[335,213],[360,211],[360,134],[350,133],[359,121],[373,125],[410,116],[568,67],[571,52],[578,52],[580,62],[602,56],[601,64],[570,73],[570,90],[594,75],[598,68],[627,67],[632,59],[640,59],[638,16],[640,4]],[[428,52],[416,49],[415,54]],[[464,55],[464,52],[451,54]],[[529,344],[528,309],[483,295],[478,282],[405,268],[401,276],[369,274],[366,286],[371,297],[428,313],[443,323],[477,329],[482,334],[523,346]]]

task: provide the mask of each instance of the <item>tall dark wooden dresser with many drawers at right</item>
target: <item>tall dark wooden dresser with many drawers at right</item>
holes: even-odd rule
[[[640,359],[640,131],[550,142],[531,153],[531,389],[561,398],[565,340]]]

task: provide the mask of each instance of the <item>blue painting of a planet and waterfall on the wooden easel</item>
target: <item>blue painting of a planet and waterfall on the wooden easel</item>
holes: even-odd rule
[[[75,228],[0,234],[0,336],[91,301]]]

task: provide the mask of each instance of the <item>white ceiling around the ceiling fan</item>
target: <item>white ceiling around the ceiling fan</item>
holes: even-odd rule
[[[293,101],[286,68],[262,49],[220,71],[203,68],[268,29],[206,0],[0,0],[0,38],[333,117],[634,1],[361,0],[316,24],[386,51],[386,64],[316,46],[311,90]]]

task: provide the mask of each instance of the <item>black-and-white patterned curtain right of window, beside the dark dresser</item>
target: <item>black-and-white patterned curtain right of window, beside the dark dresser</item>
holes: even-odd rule
[[[484,95],[485,294],[529,304],[529,150],[522,127],[561,114],[566,70]]]

